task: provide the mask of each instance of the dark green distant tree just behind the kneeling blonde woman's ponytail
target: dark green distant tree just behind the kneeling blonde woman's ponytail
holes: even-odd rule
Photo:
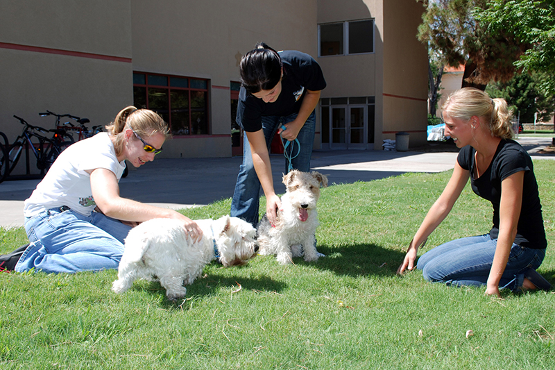
[[[514,110],[520,113],[520,122],[532,123],[538,112],[539,121],[549,121],[555,111],[555,96],[543,90],[546,74],[515,74],[505,83],[490,83],[486,92],[492,98],[503,98]]]

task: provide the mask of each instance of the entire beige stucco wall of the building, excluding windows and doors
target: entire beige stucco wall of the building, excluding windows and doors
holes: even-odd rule
[[[244,53],[264,41],[317,58],[318,23],[373,18],[374,53],[318,62],[328,83],[324,97],[375,96],[380,149],[383,131],[420,125],[426,56],[414,35],[421,11],[413,0],[4,1],[0,130],[15,138],[21,128],[14,114],[31,124],[53,124],[38,117],[42,110],[87,117],[90,126],[107,124],[133,103],[133,71],[207,78],[213,136],[176,137],[160,157],[229,156],[229,86],[239,81]],[[396,103],[384,94],[417,100]],[[425,126],[422,132],[425,137]],[[414,140],[411,134],[411,145]]]

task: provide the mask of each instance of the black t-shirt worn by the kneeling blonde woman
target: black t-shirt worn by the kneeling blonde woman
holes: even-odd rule
[[[515,244],[531,249],[547,246],[543,228],[542,206],[538,194],[538,183],[533,174],[530,155],[513,140],[501,140],[491,160],[490,167],[479,178],[474,178],[475,149],[465,146],[457,158],[459,165],[470,171],[472,190],[493,205],[493,228],[490,237],[499,235],[499,204],[501,203],[501,182],[519,171],[524,171],[522,208],[518,218]]]

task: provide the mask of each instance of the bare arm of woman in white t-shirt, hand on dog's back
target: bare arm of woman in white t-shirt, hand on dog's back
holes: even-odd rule
[[[108,169],[90,171],[92,196],[104,215],[121,221],[142,222],[155,218],[179,219],[185,230],[193,230],[194,239],[200,239],[203,231],[198,225],[174,210],[158,208],[119,196],[116,175]]]

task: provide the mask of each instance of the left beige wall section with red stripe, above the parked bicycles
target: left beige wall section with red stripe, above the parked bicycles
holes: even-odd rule
[[[133,103],[129,3],[129,0],[1,3],[0,131],[10,141],[23,128],[12,115],[35,126],[53,128],[53,117],[38,115],[51,110],[87,117],[92,126],[108,124],[121,108]],[[24,158],[15,174],[24,171],[21,162]],[[34,158],[31,167],[35,167]]]

